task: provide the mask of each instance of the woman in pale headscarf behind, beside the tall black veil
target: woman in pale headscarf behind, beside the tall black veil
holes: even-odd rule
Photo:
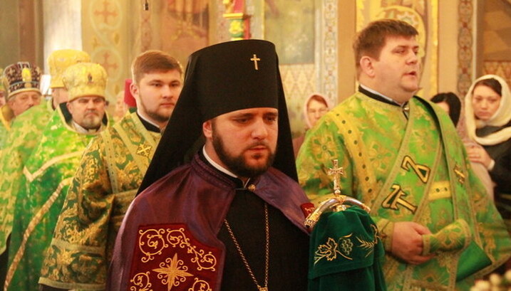
[[[306,123],[305,131],[314,127],[316,122],[325,115],[326,112],[329,112],[329,110],[331,110],[330,102],[323,95],[314,93],[307,97],[304,102],[304,119]],[[304,143],[305,133],[306,132],[293,139],[293,152],[295,159],[298,155],[301,144]]]

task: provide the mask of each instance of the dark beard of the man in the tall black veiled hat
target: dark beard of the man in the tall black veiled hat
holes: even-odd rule
[[[213,148],[215,149],[217,156],[224,163],[224,165],[227,166],[229,171],[232,171],[232,173],[237,174],[240,177],[252,178],[259,176],[260,174],[263,174],[265,171],[267,171],[268,168],[273,164],[275,152],[269,153],[265,164],[262,164],[261,166],[249,166],[245,162],[243,152],[242,154],[239,154],[239,156],[234,157],[225,150],[224,142],[219,135],[215,134],[215,130],[212,132],[212,137]],[[267,146],[266,143],[259,142],[257,144],[252,144],[250,147],[256,147],[258,145]]]

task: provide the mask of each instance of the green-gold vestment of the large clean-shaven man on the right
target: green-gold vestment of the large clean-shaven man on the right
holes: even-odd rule
[[[511,240],[448,115],[419,97],[408,105],[407,118],[361,92],[349,97],[309,130],[296,161],[299,181],[314,203],[329,198],[328,169],[339,159],[343,194],[371,207],[387,251],[394,222],[430,229],[423,255],[436,253],[432,260],[408,265],[386,253],[388,290],[469,290],[510,257]]]

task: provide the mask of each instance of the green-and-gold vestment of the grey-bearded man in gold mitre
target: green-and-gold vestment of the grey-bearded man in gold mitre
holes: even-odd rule
[[[14,206],[4,290],[38,289],[44,254],[69,185],[83,151],[96,136],[76,132],[61,109],[67,108],[56,110],[24,166]]]

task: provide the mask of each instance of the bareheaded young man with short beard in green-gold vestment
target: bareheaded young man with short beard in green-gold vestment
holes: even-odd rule
[[[118,228],[182,88],[180,63],[161,51],[138,55],[132,73],[137,110],[84,152],[43,262],[43,290],[105,288]]]

